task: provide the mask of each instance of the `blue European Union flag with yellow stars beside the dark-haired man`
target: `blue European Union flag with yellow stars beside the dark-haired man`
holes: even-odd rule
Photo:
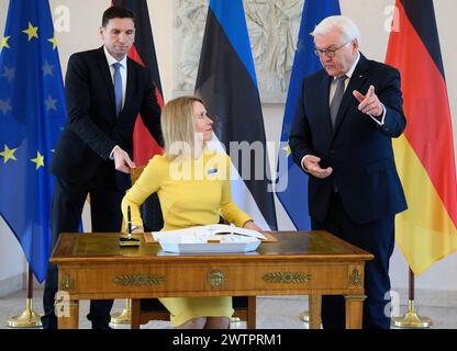
[[[54,190],[48,166],[66,121],[48,1],[10,1],[0,48],[0,214],[42,282]]]

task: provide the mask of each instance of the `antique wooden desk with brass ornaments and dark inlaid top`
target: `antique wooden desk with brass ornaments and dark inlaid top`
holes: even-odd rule
[[[321,296],[344,295],[346,328],[361,328],[365,261],[372,254],[326,231],[271,233],[278,242],[231,254],[172,254],[158,244],[120,248],[120,234],[62,234],[51,262],[59,269],[59,328],[78,328],[79,299],[176,296],[310,295],[310,327]],[[65,309],[66,308],[66,309]]]

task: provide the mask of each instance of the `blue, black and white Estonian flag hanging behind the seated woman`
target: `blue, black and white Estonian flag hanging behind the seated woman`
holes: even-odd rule
[[[230,152],[232,174],[243,178],[232,177],[232,195],[263,229],[275,230],[264,118],[242,0],[210,1],[196,93],[216,118],[215,133],[227,152],[231,143],[253,147],[247,155],[250,165],[243,161],[245,151]]]

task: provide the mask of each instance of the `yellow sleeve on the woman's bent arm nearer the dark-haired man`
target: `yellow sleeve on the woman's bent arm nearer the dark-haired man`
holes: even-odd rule
[[[132,225],[143,226],[143,219],[140,214],[140,206],[152,193],[155,193],[161,183],[161,156],[154,156],[143,170],[135,184],[127,190],[122,199],[122,215],[127,220],[127,206],[131,208]]]

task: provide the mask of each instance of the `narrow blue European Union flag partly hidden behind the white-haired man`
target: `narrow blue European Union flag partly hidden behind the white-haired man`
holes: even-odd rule
[[[292,76],[282,121],[281,145],[285,145],[285,147],[279,150],[278,156],[283,159],[287,158],[288,167],[281,172],[282,167],[278,165],[279,180],[277,185],[278,199],[299,230],[306,230],[311,227],[308,211],[308,176],[292,160],[288,146],[290,128],[303,78],[322,68],[317,56],[314,55],[314,41],[310,33],[323,19],[339,13],[338,0],[306,0],[301,18],[299,42],[293,59]]]

